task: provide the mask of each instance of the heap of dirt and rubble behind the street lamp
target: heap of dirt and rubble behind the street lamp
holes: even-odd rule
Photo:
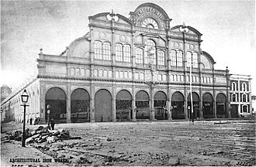
[[[6,140],[22,140],[22,131],[7,132],[6,134]],[[71,137],[69,135],[69,131],[65,131],[63,129],[50,130],[49,128],[43,126],[40,126],[36,130],[29,130],[29,128],[27,128],[25,131],[25,136],[26,143],[53,143],[58,140],[81,139],[81,137]]]

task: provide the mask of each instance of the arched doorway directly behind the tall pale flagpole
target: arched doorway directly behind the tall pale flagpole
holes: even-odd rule
[[[188,96],[188,106],[191,107],[191,94],[189,93],[189,96]],[[192,92],[192,102],[193,102],[193,117],[194,118],[200,118],[200,114],[199,114],[199,95],[196,94],[195,92]],[[189,115],[189,118],[192,118],[191,115],[192,115],[192,110],[188,110],[188,115]]]

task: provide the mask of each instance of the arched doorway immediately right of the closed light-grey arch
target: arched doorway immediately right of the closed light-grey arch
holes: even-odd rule
[[[132,114],[132,95],[127,90],[120,90],[116,94],[116,120],[130,121]]]

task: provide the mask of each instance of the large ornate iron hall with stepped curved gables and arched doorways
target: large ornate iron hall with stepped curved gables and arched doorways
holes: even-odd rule
[[[41,123],[47,106],[58,122],[188,119],[191,105],[198,119],[240,115],[230,110],[229,70],[214,68],[199,30],[172,25],[153,3],[139,5],[129,19],[113,12],[88,19],[89,32],[61,55],[41,50],[37,77],[2,103],[12,119],[22,121],[25,88],[26,120]]]

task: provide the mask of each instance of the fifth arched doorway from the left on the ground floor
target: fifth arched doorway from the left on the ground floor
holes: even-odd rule
[[[150,119],[149,96],[146,91],[140,90],[136,94],[136,118]]]

